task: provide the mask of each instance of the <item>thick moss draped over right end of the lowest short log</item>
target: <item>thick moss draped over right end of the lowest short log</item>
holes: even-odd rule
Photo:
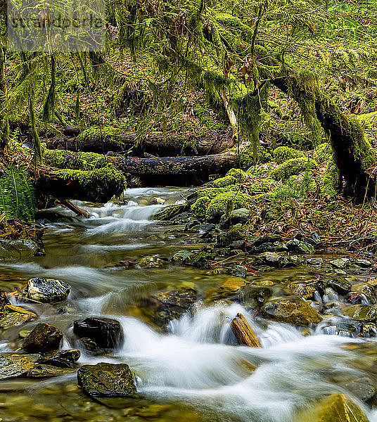
[[[58,170],[56,176],[70,179],[75,184],[77,198],[86,198],[90,192],[93,201],[107,202],[111,196],[120,196],[126,188],[124,175],[114,167],[103,167],[96,170]]]

